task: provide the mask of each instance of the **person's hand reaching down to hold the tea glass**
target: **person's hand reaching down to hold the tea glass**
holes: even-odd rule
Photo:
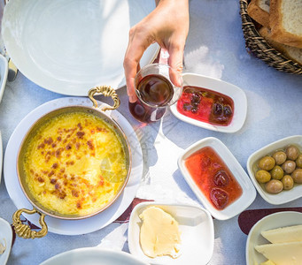
[[[152,0],[150,0],[152,1]],[[134,79],[143,52],[158,42],[169,53],[168,64],[182,72],[183,49],[189,31],[189,0],[160,0],[159,5],[129,32],[124,70],[129,102],[136,102]],[[171,77],[174,83],[176,79]]]

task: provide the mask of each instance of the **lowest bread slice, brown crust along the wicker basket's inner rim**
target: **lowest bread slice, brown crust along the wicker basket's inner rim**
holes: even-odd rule
[[[291,1],[291,0],[290,0]],[[269,29],[267,27],[261,27],[259,29],[259,34],[265,38],[267,43],[282,53],[285,57],[288,57],[294,62],[302,65],[302,49],[297,47],[292,47],[289,45],[282,44],[280,42],[275,42],[272,37]]]

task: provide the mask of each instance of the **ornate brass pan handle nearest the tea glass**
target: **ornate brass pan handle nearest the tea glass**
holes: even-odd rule
[[[110,86],[101,86],[101,87],[93,87],[89,90],[88,96],[91,102],[93,102],[93,106],[97,108],[97,101],[93,97],[95,94],[103,94],[105,96],[111,96],[114,102],[112,107],[103,107],[102,110],[116,110],[120,106],[119,96],[116,94],[115,90]]]

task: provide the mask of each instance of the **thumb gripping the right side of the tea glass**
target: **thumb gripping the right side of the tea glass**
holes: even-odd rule
[[[175,47],[169,49],[168,64],[174,69],[174,71],[170,71],[170,79],[176,87],[182,86],[182,58],[183,48]]]

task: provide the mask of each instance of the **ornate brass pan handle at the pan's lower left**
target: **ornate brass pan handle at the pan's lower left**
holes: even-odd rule
[[[40,231],[33,231],[29,227],[28,224],[24,224],[20,220],[20,216],[22,212],[28,214],[28,215],[34,215],[37,213],[40,215],[39,223],[41,224],[41,230]],[[32,210],[28,210],[27,208],[20,208],[17,210],[13,216],[12,216],[12,224],[14,226],[14,230],[16,231],[16,234],[23,239],[35,239],[35,238],[43,238],[46,236],[48,228],[44,221],[45,215],[43,213],[40,213],[36,208],[33,208]]]

